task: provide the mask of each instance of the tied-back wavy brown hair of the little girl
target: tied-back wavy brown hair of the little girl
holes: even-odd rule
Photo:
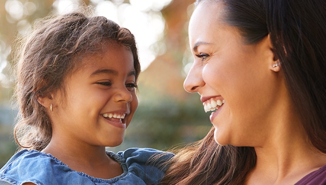
[[[50,142],[51,121],[38,97],[64,90],[64,79],[80,67],[82,57],[100,54],[107,43],[120,44],[133,54],[136,79],[140,72],[133,34],[103,16],[72,12],[47,17],[35,22],[33,32],[17,42],[15,97],[20,114],[14,133],[22,148],[42,150]]]

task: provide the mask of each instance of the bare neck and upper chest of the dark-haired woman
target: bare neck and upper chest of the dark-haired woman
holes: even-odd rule
[[[289,120],[275,123],[274,134],[255,147],[257,161],[247,184],[294,184],[326,164],[326,155],[312,146],[302,124]]]

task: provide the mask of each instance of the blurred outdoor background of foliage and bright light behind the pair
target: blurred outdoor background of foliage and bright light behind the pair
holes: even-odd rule
[[[123,143],[109,150],[167,150],[203,138],[212,126],[200,96],[183,88],[193,59],[187,29],[194,0],[0,0],[0,167],[17,148],[12,134],[17,110],[11,101],[15,76],[9,72],[13,40],[28,34],[35,19],[81,3],[129,28],[139,47],[139,106]]]

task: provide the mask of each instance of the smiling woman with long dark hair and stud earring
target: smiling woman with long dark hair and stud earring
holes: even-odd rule
[[[214,127],[174,157],[162,183],[326,184],[325,7],[197,0],[184,87]]]

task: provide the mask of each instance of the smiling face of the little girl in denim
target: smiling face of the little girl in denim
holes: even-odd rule
[[[117,146],[138,106],[132,53],[109,42],[79,65],[65,80],[65,95],[53,97],[53,132],[74,144]]]

